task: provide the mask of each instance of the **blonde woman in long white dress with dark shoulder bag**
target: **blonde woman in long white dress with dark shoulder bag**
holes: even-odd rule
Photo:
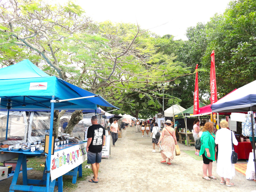
[[[217,174],[221,177],[220,184],[226,186],[234,186],[234,183],[230,182],[233,176],[235,176],[235,165],[231,163],[231,131],[227,129],[228,123],[225,120],[220,122],[220,127],[216,133],[215,143],[219,146],[218,159],[217,159]],[[235,134],[232,132],[233,143],[238,145],[235,138]],[[224,180],[226,178],[226,181]]]

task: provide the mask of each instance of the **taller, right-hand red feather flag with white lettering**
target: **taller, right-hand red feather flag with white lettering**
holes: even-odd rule
[[[213,104],[217,102],[214,50],[212,50],[212,53],[211,53],[210,90],[211,90],[210,100],[211,100],[211,104]]]

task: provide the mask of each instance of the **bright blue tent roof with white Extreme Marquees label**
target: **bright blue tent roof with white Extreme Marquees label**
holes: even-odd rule
[[[0,69],[0,110],[7,109],[8,105],[12,111],[44,110],[50,109],[52,96],[55,99],[71,99],[93,95],[60,78],[49,76],[29,60]],[[97,105],[115,107],[99,96],[55,103],[54,109],[93,110]]]

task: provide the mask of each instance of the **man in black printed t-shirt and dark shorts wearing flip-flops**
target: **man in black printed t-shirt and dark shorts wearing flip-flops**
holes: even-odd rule
[[[105,143],[105,129],[97,122],[97,116],[92,116],[92,126],[87,132],[87,163],[92,165],[93,179],[89,182],[98,183],[99,163],[101,162],[102,146]]]

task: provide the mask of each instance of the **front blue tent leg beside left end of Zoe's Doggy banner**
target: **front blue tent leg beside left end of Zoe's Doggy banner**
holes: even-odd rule
[[[50,188],[50,167],[51,167],[51,146],[52,146],[52,138],[53,138],[53,114],[54,114],[54,96],[52,96],[51,100],[51,118],[50,118],[50,131],[49,131],[49,148],[48,155],[46,158],[47,162],[47,175],[46,175],[46,192],[49,192]]]

